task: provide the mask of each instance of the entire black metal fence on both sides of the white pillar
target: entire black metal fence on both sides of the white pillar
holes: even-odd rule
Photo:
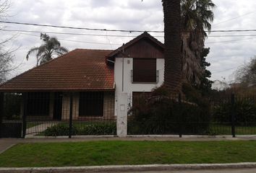
[[[114,92],[0,94],[0,138],[116,135]],[[128,135],[256,135],[256,98],[129,98]]]

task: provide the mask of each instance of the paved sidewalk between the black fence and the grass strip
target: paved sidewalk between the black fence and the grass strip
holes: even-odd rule
[[[84,142],[84,141],[256,141],[256,136],[129,136],[119,138],[113,136],[67,136],[48,138],[0,138],[0,154],[17,143],[61,143],[61,142]]]

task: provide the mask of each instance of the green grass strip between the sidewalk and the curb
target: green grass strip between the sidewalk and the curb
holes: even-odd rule
[[[91,141],[18,144],[0,167],[211,164],[256,161],[256,141]]]

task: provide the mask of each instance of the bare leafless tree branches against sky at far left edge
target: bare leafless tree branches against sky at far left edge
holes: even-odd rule
[[[0,19],[7,18],[7,10],[9,9],[9,1],[0,0]],[[0,26],[0,29],[2,27]],[[3,34],[4,35],[4,34]],[[7,75],[15,68],[12,66],[12,60],[14,58],[12,48],[7,48],[7,44],[12,41],[13,37],[0,38],[0,84],[7,79]]]

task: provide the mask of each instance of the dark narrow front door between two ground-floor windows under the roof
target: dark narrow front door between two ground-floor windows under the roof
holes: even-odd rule
[[[62,92],[54,93],[54,120],[61,120],[62,115]]]

